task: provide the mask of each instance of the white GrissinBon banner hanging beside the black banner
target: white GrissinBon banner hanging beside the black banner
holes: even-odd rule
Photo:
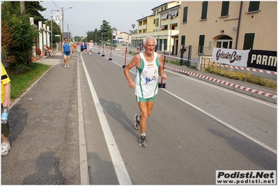
[[[247,67],[249,49],[222,49],[213,48],[213,61],[234,66]]]

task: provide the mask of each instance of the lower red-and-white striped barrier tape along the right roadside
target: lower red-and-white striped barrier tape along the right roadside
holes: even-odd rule
[[[196,76],[196,77],[200,77],[200,78],[203,78],[203,79],[207,79],[209,81],[213,81],[213,82],[217,82],[219,84],[224,84],[224,85],[227,85],[227,86],[233,86],[235,88],[240,88],[242,89],[243,91],[249,91],[249,92],[252,92],[252,93],[256,93],[256,94],[259,94],[259,95],[265,95],[269,98],[274,98],[274,99],[277,99],[277,95],[272,95],[270,93],[264,93],[262,91],[257,91],[255,89],[252,89],[252,88],[247,88],[245,86],[240,86],[238,84],[232,84],[232,83],[229,83],[229,82],[225,82],[225,81],[222,81],[222,80],[219,80],[219,79],[215,79],[215,78],[212,78],[212,77],[206,77],[204,75],[199,75],[199,74],[196,74],[196,73],[193,73],[193,72],[188,72],[186,70],[180,70],[178,68],[172,68],[170,66],[167,66],[167,65],[164,65],[164,68],[169,68],[171,70],[175,70],[177,72],[182,72],[182,73],[185,73],[187,75],[193,75],[193,76]]]

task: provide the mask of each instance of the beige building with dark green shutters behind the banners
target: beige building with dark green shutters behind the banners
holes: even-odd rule
[[[277,51],[276,1],[182,1],[178,46],[192,57],[213,47]]]

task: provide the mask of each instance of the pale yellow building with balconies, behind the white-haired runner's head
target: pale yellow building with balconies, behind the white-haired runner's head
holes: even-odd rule
[[[146,36],[153,36],[157,39],[157,50],[169,52],[174,42],[171,36],[178,34],[180,1],[170,1],[151,10],[153,15],[137,20],[138,33],[131,36],[132,47],[137,47]]]

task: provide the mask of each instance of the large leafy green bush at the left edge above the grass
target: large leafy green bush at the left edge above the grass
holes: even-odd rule
[[[20,3],[5,1],[2,3],[1,17],[3,32],[1,38],[1,54],[6,56],[10,66],[29,65],[32,47],[38,37],[38,30],[30,24],[29,15],[20,14]],[[4,34],[4,35],[3,35]],[[4,49],[4,50],[3,50]]]

